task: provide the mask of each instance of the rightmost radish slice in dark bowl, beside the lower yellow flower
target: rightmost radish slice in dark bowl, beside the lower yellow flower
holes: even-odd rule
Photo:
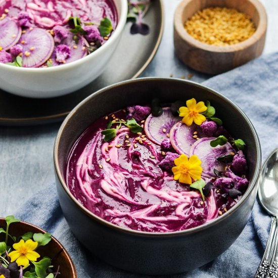
[[[215,139],[215,137],[203,137],[196,141],[190,149],[190,156],[197,155],[202,161],[202,175],[205,177],[215,176],[213,169],[224,170],[225,164],[219,162],[217,157],[236,152],[228,142],[223,146],[211,147],[210,142]]]

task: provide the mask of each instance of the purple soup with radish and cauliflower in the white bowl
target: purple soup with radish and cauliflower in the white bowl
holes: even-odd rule
[[[0,0],[0,63],[76,61],[100,48],[117,22],[113,0]]]

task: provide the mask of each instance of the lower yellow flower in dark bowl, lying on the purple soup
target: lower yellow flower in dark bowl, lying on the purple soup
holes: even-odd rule
[[[186,155],[182,154],[174,159],[176,166],[172,168],[174,173],[174,180],[182,183],[191,184],[192,179],[200,179],[202,173],[202,161],[197,155],[191,156],[189,159]]]

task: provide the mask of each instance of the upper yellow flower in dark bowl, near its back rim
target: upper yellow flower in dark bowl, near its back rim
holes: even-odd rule
[[[192,125],[193,121],[201,125],[202,122],[206,120],[206,117],[200,113],[203,113],[207,110],[204,102],[198,102],[196,104],[195,99],[191,99],[187,101],[187,107],[182,106],[179,108],[179,116],[183,117],[182,122],[186,125]]]

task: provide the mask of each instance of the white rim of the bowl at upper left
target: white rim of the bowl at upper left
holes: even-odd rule
[[[114,41],[117,40],[117,38],[121,35],[122,30],[125,26],[126,23],[126,15],[127,15],[127,1],[126,0],[118,0],[121,10],[119,11],[117,5],[115,4],[115,0],[112,0],[113,4],[116,7],[116,11],[117,11],[117,15],[118,15],[118,22],[117,22],[117,26],[115,28],[115,30],[113,31],[113,33],[111,34],[111,37],[96,51],[94,51],[93,53],[90,53],[88,55],[86,55],[85,57],[82,57],[76,61],[70,62],[68,64],[63,64],[63,65],[59,65],[59,66],[54,66],[54,67],[46,67],[46,68],[41,68],[41,67],[37,67],[37,68],[27,68],[27,67],[15,67],[15,66],[11,66],[11,65],[6,65],[4,63],[0,63],[0,68],[3,67],[3,69],[9,69],[9,70],[15,70],[18,72],[24,72],[24,73],[47,73],[47,72],[59,72],[59,71],[63,71],[63,70],[68,70],[70,68],[76,68],[78,66],[80,66],[83,63],[86,63],[92,59],[94,59],[95,56],[99,56],[102,55],[102,53],[106,52],[106,49],[110,46],[110,44],[112,44]]]

